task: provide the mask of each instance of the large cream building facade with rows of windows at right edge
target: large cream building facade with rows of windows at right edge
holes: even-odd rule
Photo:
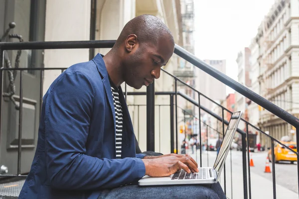
[[[298,7],[298,0],[276,0],[251,45],[255,52],[252,63],[259,71],[258,77],[257,72],[253,75],[255,91],[296,117],[299,115]],[[254,115],[259,111],[259,127],[274,138],[289,135],[295,139],[291,125],[262,107],[255,105],[252,111]],[[270,147],[269,139],[263,137],[262,145]]]

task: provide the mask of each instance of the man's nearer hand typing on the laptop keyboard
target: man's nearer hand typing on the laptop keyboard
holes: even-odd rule
[[[174,174],[178,169],[183,169],[187,173],[198,172],[197,163],[193,158],[189,155],[179,156],[165,155],[154,159],[143,159],[146,166],[146,175],[164,177]]]

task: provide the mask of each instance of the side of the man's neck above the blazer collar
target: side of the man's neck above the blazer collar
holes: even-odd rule
[[[106,65],[107,72],[110,76],[111,81],[116,87],[123,84],[124,80],[122,77],[122,62],[117,51],[110,50],[104,57],[103,60]]]

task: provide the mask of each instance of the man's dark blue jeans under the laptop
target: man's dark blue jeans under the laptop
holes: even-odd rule
[[[98,193],[98,199],[226,199],[219,183],[158,187],[130,185]]]

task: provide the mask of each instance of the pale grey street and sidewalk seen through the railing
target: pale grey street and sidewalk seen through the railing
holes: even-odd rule
[[[187,150],[187,153],[196,160],[195,151],[194,154],[192,154],[191,150]],[[213,167],[216,155],[217,153],[214,151],[204,151],[202,153],[202,167]],[[272,163],[269,163],[271,173],[265,173],[266,157],[267,152],[252,153],[252,159],[254,162],[254,167],[250,167],[252,199],[273,199]],[[209,164],[207,164],[207,160]],[[197,150],[197,162],[200,163],[199,150]],[[200,164],[198,164],[198,166],[200,166]],[[298,198],[297,163],[277,163],[275,164],[275,170],[277,199]],[[224,170],[221,172],[221,178],[219,181],[224,189]],[[242,152],[240,151],[232,150],[231,155],[229,153],[226,159],[226,195],[229,199],[243,199],[244,196]]]

